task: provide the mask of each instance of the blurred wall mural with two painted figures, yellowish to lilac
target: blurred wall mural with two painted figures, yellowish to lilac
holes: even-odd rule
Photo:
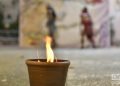
[[[108,0],[21,0],[20,46],[110,47]],[[97,3],[97,4],[96,4]]]

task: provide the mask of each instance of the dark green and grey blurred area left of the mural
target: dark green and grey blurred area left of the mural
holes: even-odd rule
[[[0,45],[18,45],[19,0],[0,0]]]

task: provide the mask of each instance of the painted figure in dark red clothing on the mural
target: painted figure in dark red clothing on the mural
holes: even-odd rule
[[[94,33],[93,33],[93,22],[88,13],[88,9],[85,7],[81,14],[81,24],[83,25],[83,30],[81,31],[81,48],[84,48],[84,37],[87,37],[88,41],[95,48]]]

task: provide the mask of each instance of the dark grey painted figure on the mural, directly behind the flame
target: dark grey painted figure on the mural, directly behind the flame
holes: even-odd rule
[[[56,13],[54,9],[48,5],[47,6],[47,28],[48,28],[48,35],[52,38],[52,48],[57,46],[55,40],[55,32],[56,32]]]

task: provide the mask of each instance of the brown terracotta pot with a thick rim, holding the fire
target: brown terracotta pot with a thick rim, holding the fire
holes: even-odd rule
[[[46,59],[28,59],[26,61],[29,73],[30,86],[65,86],[68,60],[57,60],[47,63]]]

